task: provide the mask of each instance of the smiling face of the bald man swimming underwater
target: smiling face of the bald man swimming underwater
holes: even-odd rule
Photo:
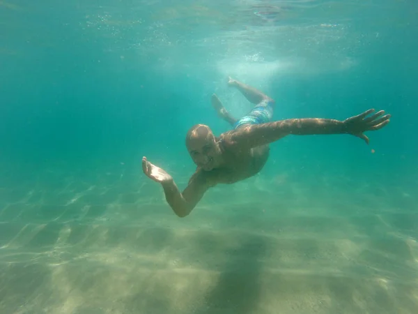
[[[212,132],[192,136],[187,140],[187,149],[194,163],[205,171],[217,166],[219,148]]]

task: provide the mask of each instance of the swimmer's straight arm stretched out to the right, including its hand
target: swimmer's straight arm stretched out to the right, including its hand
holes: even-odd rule
[[[389,123],[390,114],[383,110],[376,112],[371,117],[366,117],[374,110],[367,110],[355,117],[344,121],[334,119],[286,119],[269,122],[267,124],[254,124],[234,130],[229,135],[231,143],[241,147],[257,147],[275,142],[286,135],[330,135],[350,134],[355,135],[369,144],[369,137],[363,133],[369,130],[379,130]]]

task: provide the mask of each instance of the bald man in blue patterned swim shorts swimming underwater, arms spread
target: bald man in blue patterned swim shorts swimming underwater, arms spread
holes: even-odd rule
[[[330,135],[350,134],[369,144],[363,133],[379,130],[389,123],[390,114],[383,110],[367,110],[344,121],[334,119],[286,119],[273,121],[274,100],[261,91],[229,78],[230,87],[235,87],[255,104],[247,116],[234,119],[215,94],[212,105],[222,119],[233,126],[233,130],[215,137],[208,126],[192,126],[186,135],[186,147],[197,165],[189,184],[180,193],[170,174],[142,158],[142,170],[146,176],[158,182],[171,209],[179,217],[185,217],[194,209],[208,188],[217,184],[233,184],[254,176],[263,169],[268,160],[268,144],[286,135]]]

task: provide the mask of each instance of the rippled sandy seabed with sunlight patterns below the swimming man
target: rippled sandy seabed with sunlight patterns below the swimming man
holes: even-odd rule
[[[145,179],[3,187],[0,313],[418,313],[416,197],[333,180],[216,187],[181,219]]]

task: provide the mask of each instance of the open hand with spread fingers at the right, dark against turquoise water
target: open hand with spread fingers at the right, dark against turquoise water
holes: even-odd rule
[[[375,112],[375,110],[370,109],[355,117],[344,120],[343,124],[345,126],[346,132],[361,138],[364,140],[364,142],[366,142],[366,144],[369,144],[369,137],[363,133],[369,130],[380,130],[389,124],[389,119],[391,117],[390,114],[386,114],[385,116],[381,117],[385,111],[380,110],[379,112],[376,112],[376,114],[366,118],[367,115],[373,112]]]

